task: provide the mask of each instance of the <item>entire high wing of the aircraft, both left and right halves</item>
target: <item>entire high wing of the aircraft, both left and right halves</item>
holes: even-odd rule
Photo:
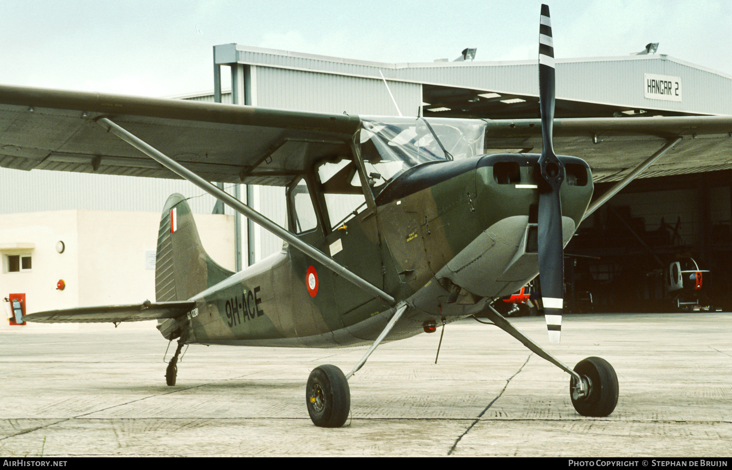
[[[313,159],[350,154],[356,115],[0,86],[0,167],[178,178],[94,121],[107,117],[208,181],[285,186]],[[539,119],[486,120],[486,153],[540,152]],[[564,118],[556,153],[621,179],[681,137],[643,177],[732,168],[732,116]]]

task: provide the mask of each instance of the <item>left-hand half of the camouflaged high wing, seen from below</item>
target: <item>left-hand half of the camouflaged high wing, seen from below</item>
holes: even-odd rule
[[[0,166],[179,178],[100,117],[208,181],[287,185],[309,159],[350,154],[358,116],[0,86]]]

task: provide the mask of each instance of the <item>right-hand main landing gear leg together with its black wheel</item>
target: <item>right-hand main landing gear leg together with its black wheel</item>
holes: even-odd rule
[[[618,376],[608,361],[600,357],[587,357],[580,360],[572,370],[527,338],[493,307],[488,306],[483,314],[501,330],[521,341],[531,352],[535,352],[539,357],[548,360],[572,376],[569,380],[569,394],[572,398],[572,405],[579,414],[605,417],[613,412],[618,404]]]

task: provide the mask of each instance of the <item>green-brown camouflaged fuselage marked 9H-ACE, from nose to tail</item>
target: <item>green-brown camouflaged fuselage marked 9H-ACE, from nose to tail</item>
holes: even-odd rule
[[[568,167],[561,187],[566,244],[593,186],[582,160],[561,158]],[[539,191],[537,159],[511,153],[422,164],[392,181],[376,206],[340,230],[326,234],[318,225],[299,236],[397,301],[406,300],[410,308],[387,340],[414,336],[426,320],[449,322],[475,314],[536,276],[531,227]],[[182,226],[193,224],[190,210],[176,204],[178,230],[164,227],[174,205],[169,201],[159,254],[161,243],[168,238],[176,243],[176,236],[184,235]],[[208,279],[206,287],[186,297],[196,307],[184,318],[161,325],[164,335],[176,330],[185,342],[201,344],[351,346],[373,341],[393,312],[383,300],[287,246],[233,274],[215,265],[196,243],[200,246],[194,240],[185,256],[198,257],[196,277]],[[183,300],[181,295],[185,291],[175,298],[159,294],[157,300]]]

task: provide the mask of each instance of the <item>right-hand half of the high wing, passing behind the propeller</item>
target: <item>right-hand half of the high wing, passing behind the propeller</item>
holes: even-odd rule
[[[554,120],[556,153],[578,156],[595,182],[615,181],[667,143],[681,137],[641,178],[732,168],[732,116],[564,118]],[[542,149],[539,119],[489,121],[486,147]],[[487,151],[487,153],[493,153]]]

